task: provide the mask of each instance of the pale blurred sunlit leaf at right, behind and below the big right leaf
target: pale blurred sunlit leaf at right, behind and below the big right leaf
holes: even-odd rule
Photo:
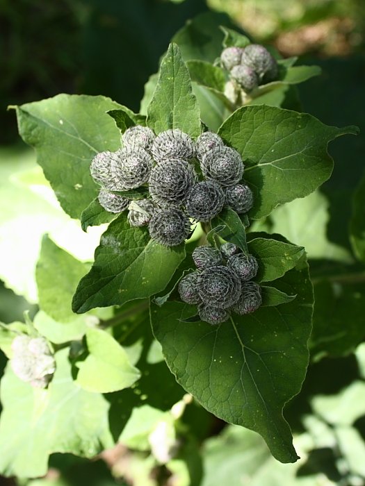
[[[273,210],[268,230],[304,246],[308,258],[352,262],[352,256],[346,249],[328,239],[329,206],[327,198],[321,192],[315,191],[303,199],[291,201]]]

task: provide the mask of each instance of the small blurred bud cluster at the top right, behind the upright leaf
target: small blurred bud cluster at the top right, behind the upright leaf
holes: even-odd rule
[[[229,89],[233,81],[233,85],[238,85],[246,93],[274,81],[278,74],[277,61],[260,44],[249,44],[244,48],[227,47],[220,55],[220,62],[229,71]]]

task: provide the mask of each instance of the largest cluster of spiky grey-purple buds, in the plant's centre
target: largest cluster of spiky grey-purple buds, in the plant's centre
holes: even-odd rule
[[[252,207],[241,155],[216,133],[202,133],[194,141],[179,129],[155,135],[137,125],[124,132],[122,142],[121,149],[92,159],[92,178],[102,186],[99,203],[116,214],[128,210],[129,224],[147,225],[156,242],[184,242],[191,221],[210,221],[224,206],[238,213]],[[144,199],[120,194],[143,187]]]

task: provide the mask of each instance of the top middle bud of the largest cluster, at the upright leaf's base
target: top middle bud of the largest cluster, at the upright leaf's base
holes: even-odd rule
[[[194,142],[189,135],[179,128],[161,132],[154,139],[151,147],[152,156],[156,162],[165,162],[172,158],[190,160],[194,157]]]

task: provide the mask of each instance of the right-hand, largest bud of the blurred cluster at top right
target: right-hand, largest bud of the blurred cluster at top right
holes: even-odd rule
[[[250,44],[243,49],[241,64],[254,70],[259,76],[259,83],[277,78],[277,62],[270,52],[260,44]]]

